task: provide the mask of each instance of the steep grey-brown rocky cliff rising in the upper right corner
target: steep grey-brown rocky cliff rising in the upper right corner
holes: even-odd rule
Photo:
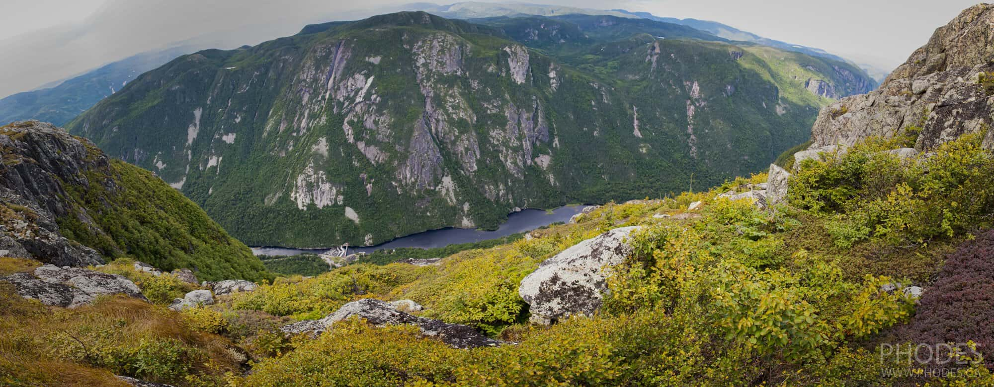
[[[986,130],[994,112],[994,5],[968,8],[935,30],[928,44],[877,90],[822,109],[812,148],[851,146],[871,136],[916,136],[927,151],[959,135]],[[985,145],[994,146],[988,132]]]

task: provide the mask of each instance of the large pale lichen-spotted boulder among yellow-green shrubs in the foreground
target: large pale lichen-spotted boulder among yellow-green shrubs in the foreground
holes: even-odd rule
[[[607,269],[624,262],[626,239],[638,226],[615,228],[547,259],[521,280],[518,294],[531,306],[532,321],[553,323],[571,315],[591,315],[607,290]]]

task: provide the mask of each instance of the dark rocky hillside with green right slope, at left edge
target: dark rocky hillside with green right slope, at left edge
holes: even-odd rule
[[[267,277],[251,251],[148,171],[51,124],[0,127],[0,256],[57,266],[128,257],[203,280]]]

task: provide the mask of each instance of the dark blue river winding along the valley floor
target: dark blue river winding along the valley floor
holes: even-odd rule
[[[573,215],[580,213],[583,205],[566,205],[552,211],[545,209],[522,209],[507,216],[507,221],[496,230],[483,231],[466,228],[441,228],[418,232],[416,234],[400,237],[390,242],[368,247],[350,247],[349,254],[357,252],[370,253],[377,250],[393,249],[398,247],[417,247],[422,249],[445,247],[450,244],[461,244],[479,242],[481,240],[497,239],[500,237],[516,234],[519,232],[531,231],[536,228],[550,225],[556,222],[566,222]],[[294,249],[287,247],[252,247],[255,255],[298,255],[298,254],[321,254],[328,249]]]

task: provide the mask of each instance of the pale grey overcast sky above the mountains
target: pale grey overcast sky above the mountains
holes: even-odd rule
[[[131,55],[195,40],[235,48],[309,23],[355,20],[413,2],[392,0],[2,0],[0,96]],[[498,2],[508,2],[507,0]],[[975,1],[536,0],[714,20],[766,38],[893,68]],[[447,2],[446,2],[447,3]],[[205,43],[206,42],[206,43]]]

